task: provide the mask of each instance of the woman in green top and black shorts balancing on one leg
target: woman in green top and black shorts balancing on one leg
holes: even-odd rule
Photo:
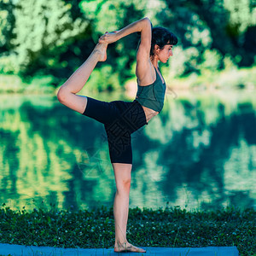
[[[88,96],[77,95],[89,79],[96,63],[106,61],[108,44],[133,32],[141,34],[137,50],[136,100],[101,102]],[[137,20],[119,31],[106,32],[88,59],[58,91],[57,96],[62,104],[104,124],[117,188],[113,203],[114,252],[146,252],[126,240],[132,166],[131,133],[143,125],[148,125],[148,121],[163,108],[166,84],[160,74],[158,61],[166,63],[172,56],[174,44],[177,44],[177,37],[162,27],[152,29],[148,18]]]

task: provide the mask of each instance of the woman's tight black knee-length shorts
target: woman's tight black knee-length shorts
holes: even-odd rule
[[[131,133],[148,125],[142,105],[136,100],[102,102],[87,97],[83,114],[104,125],[111,162],[132,164]]]

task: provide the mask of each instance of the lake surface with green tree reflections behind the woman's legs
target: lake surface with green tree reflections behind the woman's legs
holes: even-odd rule
[[[132,135],[130,207],[255,207],[253,94],[166,96],[160,115]],[[113,205],[115,183],[102,124],[55,97],[0,99],[1,204]]]

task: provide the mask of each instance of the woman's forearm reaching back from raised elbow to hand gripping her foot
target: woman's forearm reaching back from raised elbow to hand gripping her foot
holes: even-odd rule
[[[143,18],[142,20],[137,20],[133,23],[131,23],[128,26],[125,26],[124,28],[120,29],[119,31],[115,32],[106,32],[102,37],[99,39],[99,43],[108,43],[111,44],[113,42],[118,41],[120,38],[124,38],[131,33],[134,32],[141,32],[142,37],[144,34],[144,31],[150,27],[151,30],[151,22],[148,18]],[[150,41],[151,44],[151,41]],[[150,50],[150,49],[149,49]]]

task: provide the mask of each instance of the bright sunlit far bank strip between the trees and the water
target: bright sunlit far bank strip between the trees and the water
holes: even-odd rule
[[[166,71],[165,71],[166,68]],[[201,75],[191,73],[187,77],[173,78],[172,73],[167,67],[163,68],[166,84],[174,90],[212,90],[212,89],[247,89],[254,90],[256,87],[256,67],[247,67],[237,69],[235,67],[221,71],[205,70]],[[109,79],[113,79],[109,75]],[[116,78],[117,79],[117,78]],[[0,93],[20,93],[20,94],[53,94],[56,91],[52,76],[35,77],[28,84],[15,75],[0,74]],[[102,83],[99,84],[100,77],[95,73],[92,79],[89,79],[86,85],[87,90],[94,93],[101,91]],[[108,80],[108,79],[107,79]],[[105,81],[108,84],[119,84],[117,80]],[[64,82],[64,80],[63,80]],[[61,83],[60,83],[61,85]],[[126,81],[120,90],[137,90],[136,78]],[[104,86],[103,86],[104,87]],[[115,87],[114,90],[117,90]],[[129,94],[129,93],[128,93]],[[132,92],[134,95],[135,92]]]

